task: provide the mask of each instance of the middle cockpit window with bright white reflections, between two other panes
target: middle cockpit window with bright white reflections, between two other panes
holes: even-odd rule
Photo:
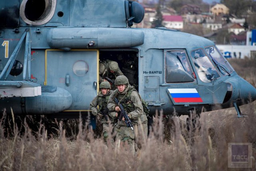
[[[192,51],[191,57],[200,80],[208,83],[220,77],[212,62],[202,49]]]

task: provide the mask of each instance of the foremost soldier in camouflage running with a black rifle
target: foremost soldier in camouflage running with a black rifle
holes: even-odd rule
[[[144,137],[148,134],[148,119],[143,111],[140,95],[136,89],[129,84],[126,76],[118,76],[115,80],[117,89],[114,90],[108,100],[108,109],[112,112],[109,113],[113,119],[118,118],[118,112],[120,111],[119,103],[122,104],[124,109],[127,111],[130,120],[132,121],[135,132],[136,129],[140,129],[138,124],[142,123]],[[115,103],[114,99],[117,98],[119,103]],[[120,113],[119,113],[120,114]],[[140,119],[140,121],[139,121]],[[119,121],[114,129],[116,133],[116,139],[121,141],[128,141],[128,145],[131,147],[132,152],[135,154],[134,138],[135,134],[131,127],[127,127],[124,122],[124,118]]]

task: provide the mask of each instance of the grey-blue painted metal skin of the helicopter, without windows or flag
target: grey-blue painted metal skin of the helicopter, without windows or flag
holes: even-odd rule
[[[214,104],[228,108],[234,102],[239,106],[249,103],[249,98],[251,101],[256,99],[256,89],[234,70],[230,76],[222,76],[209,83],[198,79],[197,73],[194,82],[166,83],[164,52],[185,50],[193,70],[196,71],[190,51],[214,46],[214,43],[176,30],[127,27],[125,0],[57,0],[51,20],[39,26],[28,25],[17,15],[21,2],[22,0],[0,2],[3,7],[0,11],[0,43],[8,40],[9,56],[13,52],[15,54],[22,35],[29,30],[30,43],[23,42],[16,57],[23,66],[28,60],[27,67],[24,67],[28,68],[28,75],[26,71],[18,76],[8,75],[6,81],[10,81],[10,84],[5,84],[2,72],[0,94],[9,87],[22,87],[19,82],[25,80],[33,82],[31,86],[41,85],[42,95],[22,98],[3,98],[0,95],[1,109],[6,107],[9,110],[12,107],[15,113],[60,115],[67,111],[78,113],[89,110],[90,101],[98,91],[97,56],[101,50],[138,52],[139,93],[149,102],[152,114],[155,109],[163,109],[165,114],[171,115],[175,108],[178,115],[189,115],[193,109],[200,111],[204,107],[206,110],[213,110]],[[4,14],[6,11],[8,12]],[[62,17],[58,16],[60,11],[64,13]],[[92,42],[93,46],[88,46]],[[6,66],[10,57],[4,58],[4,50],[5,47],[0,46],[0,58]],[[86,61],[89,66],[88,73],[82,77],[76,76],[72,71],[73,64],[79,60]],[[49,85],[53,87],[50,90]],[[203,102],[175,103],[168,88],[195,88]],[[228,92],[230,97],[224,101]],[[64,110],[66,111],[62,112]]]

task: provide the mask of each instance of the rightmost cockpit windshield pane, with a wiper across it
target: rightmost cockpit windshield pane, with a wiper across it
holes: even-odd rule
[[[224,57],[220,54],[216,46],[206,47],[205,50],[214,64],[217,66],[218,70],[220,70],[221,74],[226,76],[232,72],[232,69],[227,64],[227,61],[224,59]]]

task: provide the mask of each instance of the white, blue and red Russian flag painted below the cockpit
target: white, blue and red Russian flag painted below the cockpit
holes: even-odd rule
[[[168,91],[176,103],[203,102],[195,88],[170,88]]]

